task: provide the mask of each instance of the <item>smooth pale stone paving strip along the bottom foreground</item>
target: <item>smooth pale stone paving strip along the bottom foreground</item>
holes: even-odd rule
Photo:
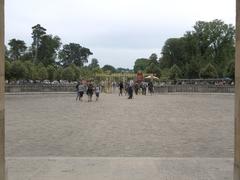
[[[8,180],[232,180],[231,158],[8,158]]]

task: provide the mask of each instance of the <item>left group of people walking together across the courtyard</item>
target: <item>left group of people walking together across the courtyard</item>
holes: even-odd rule
[[[88,96],[88,102],[92,102],[92,97],[94,93],[96,95],[96,101],[98,101],[101,88],[100,85],[98,84],[94,86],[91,82],[84,84],[82,81],[80,81],[76,85],[76,91],[77,91],[76,101],[77,100],[82,101],[83,95],[84,93],[86,93]]]

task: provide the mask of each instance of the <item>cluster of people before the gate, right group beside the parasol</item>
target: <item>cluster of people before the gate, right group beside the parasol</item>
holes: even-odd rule
[[[133,82],[130,81],[129,83],[119,83],[119,96],[123,95],[123,91],[125,91],[125,95],[128,94],[128,99],[133,98],[133,92],[138,95],[140,92],[142,95],[147,94],[148,92],[152,95],[154,93],[153,83],[150,81],[149,83],[146,82]]]

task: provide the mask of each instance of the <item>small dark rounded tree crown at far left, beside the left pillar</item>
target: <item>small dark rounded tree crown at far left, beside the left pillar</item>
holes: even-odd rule
[[[8,55],[12,60],[19,60],[27,49],[25,42],[22,40],[11,39],[8,45],[10,47]]]

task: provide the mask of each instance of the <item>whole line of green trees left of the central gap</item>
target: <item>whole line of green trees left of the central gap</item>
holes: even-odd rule
[[[90,49],[78,43],[62,45],[59,36],[47,34],[40,24],[32,27],[32,44],[11,39],[5,46],[5,77],[7,80],[68,80],[89,79],[97,73],[130,71],[129,69],[105,65],[100,68],[98,59]]]

